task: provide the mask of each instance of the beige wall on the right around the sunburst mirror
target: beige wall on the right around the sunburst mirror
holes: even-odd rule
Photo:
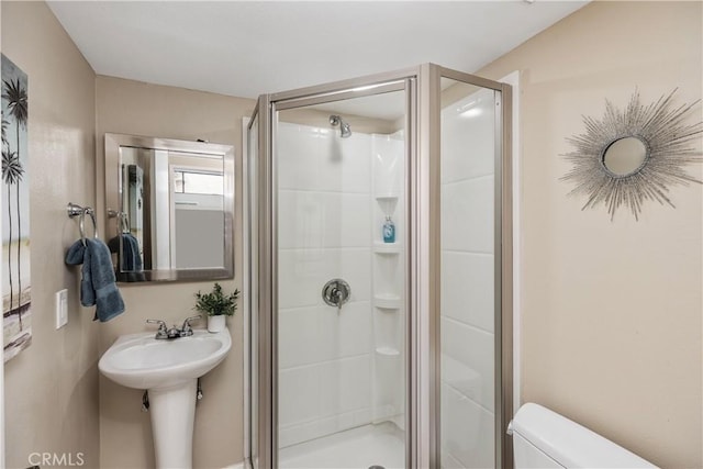
[[[558,155],[606,98],[701,98],[702,7],[591,3],[478,72],[522,74],[522,399],[670,468],[703,466],[702,187],[611,222],[567,197]],[[689,171],[703,179],[702,165]]]

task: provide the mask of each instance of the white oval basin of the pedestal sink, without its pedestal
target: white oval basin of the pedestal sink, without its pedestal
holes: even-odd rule
[[[112,344],[98,368],[127,388],[170,388],[205,375],[231,347],[226,328],[216,334],[196,330],[190,337],[175,339],[156,339],[153,332],[129,334]]]

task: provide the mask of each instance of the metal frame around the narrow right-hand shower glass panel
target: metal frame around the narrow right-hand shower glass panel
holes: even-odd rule
[[[421,188],[427,189],[429,213],[426,214],[429,253],[428,270],[428,324],[431,365],[429,372],[429,469],[440,468],[440,415],[442,415],[442,340],[440,340],[440,291],[442,291],[442,147],[440,147],[440,80],[448,78],[495,91],[494,118],[494,193],[493,193],[493,331],[494,331],[494,462],[495,468],[513,468],[512,437],[507,425],[513,416],[513,211],[512,211],[512,87],[476,75],[466,74],[434,64],[421,66],[421,161],[420,171],[427,181],[421,180]],[[436,157],[431,157],[435,155]],[[424,283],[423,283],[424,284]],[[422,332],[421,327],[421,332]],[[420,469],[420,468],[417,468]]]

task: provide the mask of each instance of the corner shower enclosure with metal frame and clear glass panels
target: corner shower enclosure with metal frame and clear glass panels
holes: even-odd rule
[[[433,64],[259,97],[254,468],[511,466],[510,102]]]

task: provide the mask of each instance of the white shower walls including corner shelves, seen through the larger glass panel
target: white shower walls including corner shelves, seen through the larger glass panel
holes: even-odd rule
[[[278,126],[281,447],[404,412],[402,235],[380,242],[390,194],[403,226],[403,141],[353,130]],[[341,311],[321,298],[334,278],[352,290]]]

